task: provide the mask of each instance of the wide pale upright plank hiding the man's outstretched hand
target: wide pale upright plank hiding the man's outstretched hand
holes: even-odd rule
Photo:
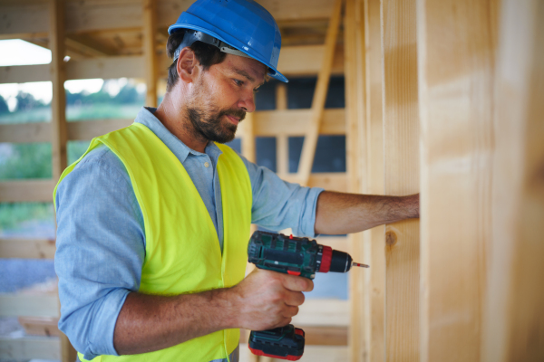
[[[418,3],[422,361],[481,360],[497,4]]]

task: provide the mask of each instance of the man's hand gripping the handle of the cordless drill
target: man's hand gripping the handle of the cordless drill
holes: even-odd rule
[[[265,330],[283,327],[298,313],[303,291],[314,282],[295,275],[256,269],[230,291],[238,304],[239,328]]]

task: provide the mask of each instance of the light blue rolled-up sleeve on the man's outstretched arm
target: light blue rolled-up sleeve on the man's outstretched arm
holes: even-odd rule
[[[253,190],[251,223],[273,231],[290,227],[298,236],[315,237],[317,198],[324,189],[289,183],[267,167],[242,159]]]

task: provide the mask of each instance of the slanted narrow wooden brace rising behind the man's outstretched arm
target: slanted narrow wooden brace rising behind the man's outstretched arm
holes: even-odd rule
[[[340,16],[342,14],[343,0],[335,0],[333,15],[326,31],[325,55],[321,70],[317,75],[316,90],[312,100],[312,116],[306,129],[304,144],[298,163],[297,176],[301,185],[307,185],[308,178],[312,172],[314,157],[316,155],[317,138],[319,137],[319,128],[323,110],[325,108],[326,91],[331,75],[332,62],[335,55],[336,38],[338,35],[338,26],[340,25]]]

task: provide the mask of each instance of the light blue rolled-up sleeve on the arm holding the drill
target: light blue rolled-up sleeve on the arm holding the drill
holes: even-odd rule
[[[141,209],[124,166],[92,150],[56,193],[59,329],[86,359],[114,355],[113,331],[145,257]]]

